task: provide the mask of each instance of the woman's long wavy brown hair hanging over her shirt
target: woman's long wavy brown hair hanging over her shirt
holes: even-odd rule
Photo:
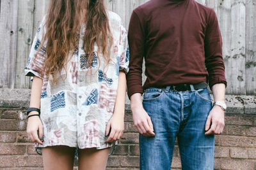
[[[106,66],[109,64],[111,50],[108,48],[111,48],[113,38],[103,0],[52,0],[45,19],[45,36],[40,46],[47,42],[47,57],[42,72],[47,76],[52,74],[54,81],[57,81],[56,73],[65,69],[67,56],[78,48],[83,24],[84,57],[87,57],[88,65],[92,67],[95,43],[99,46],[97,53],[102,52]]]

